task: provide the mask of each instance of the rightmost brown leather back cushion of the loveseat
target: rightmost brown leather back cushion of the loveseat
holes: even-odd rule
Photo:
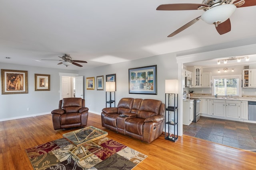
[[[154,100],[154,99],[142,100],[137,117],[146,119],[148,117],[158,115],[161,104],[162,102],[160,100]]]

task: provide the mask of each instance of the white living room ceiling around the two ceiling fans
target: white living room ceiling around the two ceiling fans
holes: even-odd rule
[[[4,0],[0,3],[0,62],[82,70],[165,53],[256,43],[256,6],[237,8],[230,17],[232,29],[224,35],[219,35],[214,25],[200,20],[168,38],[203,11],[156,8],[160,4],[201,2]],[[65,53],[73,60],[88,63],[66,67],[57,65],[59,61],[41,61],[58,60]]]

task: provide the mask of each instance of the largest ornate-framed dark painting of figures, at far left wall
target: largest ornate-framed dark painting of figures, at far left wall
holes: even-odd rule
[[[28,71],[1,69],[2,94],[28,93]]]

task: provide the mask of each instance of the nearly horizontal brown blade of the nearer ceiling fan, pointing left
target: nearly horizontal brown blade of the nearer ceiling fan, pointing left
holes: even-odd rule
[[[197,10],[200,6],[206,6],[206,4],[162,4],[156,8],[156,10]]]

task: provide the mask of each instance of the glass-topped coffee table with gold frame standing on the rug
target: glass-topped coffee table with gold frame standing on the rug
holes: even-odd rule
[[[69,152],[80,161],[101,150],[102,147],[96,145],[93,141],[107,135],[108,132],[89,126],[65,133],[63,137],[74,145],[73,148],[69,149]]]

